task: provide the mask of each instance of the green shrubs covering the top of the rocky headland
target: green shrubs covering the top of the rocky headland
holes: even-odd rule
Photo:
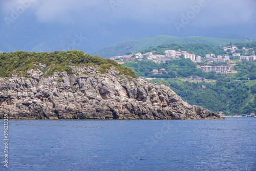
[[[46,65],[44,70],[45,76],[50,76],[54,72],[67,71],[72,74],[72,68],[66,65],[74,66],[100,66],[103,70],[108,70],[111,67],[115,67],[120,74],[124,74],[129,77],[136,78],[136,74],[130,68],[123,67],[117,62],[104,59],[98,56],[90,56],[84,54],[82,51],[72,50],[68,52],[55,51],[55,52],[22,52],[16,51],[11,53],[0,54],[0,77],[10,77],[13,75],[27,77],[27,71],[30,69],[39,69],[38,66]]]

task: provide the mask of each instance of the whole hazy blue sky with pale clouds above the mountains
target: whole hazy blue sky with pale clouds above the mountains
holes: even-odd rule
[[[0,9],[0,43],[17,50],[80,35],[84,51],[156,35],[256,35],[255,0],[1,0]]]

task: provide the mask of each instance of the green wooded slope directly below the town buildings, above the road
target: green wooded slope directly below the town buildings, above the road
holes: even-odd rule
[[[222,63],[221,63],[222,64]],[[256,61],[238,62],[237,66],[233,67],[236,74],[226,74],[232,79],[256,79]],[[201,68],[197,68],[197,63],[190,59],[181,58],[179,60],[166,60],[165,63],[156,63],[152,60],[142,60],[134,62],[125,62],[125,67],[133,69],[137,76],[141,77],[155,77],[155,78],[197,78],[202,77],[206,79],[217,79],[220,73],[215,71],[203,72]],[[153,74],[152,70],[165,69],[163,74]]]

